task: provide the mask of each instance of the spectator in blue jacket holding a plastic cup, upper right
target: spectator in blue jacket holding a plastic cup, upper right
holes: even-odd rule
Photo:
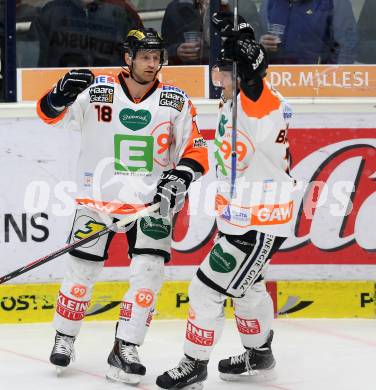
[[[351,64],[357,43],[349,0],[264,0],[260,41],[274,64]]]

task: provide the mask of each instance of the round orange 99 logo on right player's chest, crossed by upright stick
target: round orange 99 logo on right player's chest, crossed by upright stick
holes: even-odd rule
[[[231,133],[226,132],[221,141],[218,147],[224,160],[223,164],[227,169],[231,169]],[[238,172],[242,172],[249,167],[249,159],[246,158],[249,151],[255,152],[252,140],[244,131],[238,130],[236,141],[236,170]]]

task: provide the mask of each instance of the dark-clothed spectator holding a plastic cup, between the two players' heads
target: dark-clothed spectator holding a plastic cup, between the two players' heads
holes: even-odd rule
[[[221,11],[229,11],[222,1]],[[169,65],[209,63],[209,0],[172,0],[162,20]]]

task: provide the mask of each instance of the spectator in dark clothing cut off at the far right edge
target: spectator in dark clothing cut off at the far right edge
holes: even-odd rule
[[[358,20],[358,61],[376,64],[376,0],[366,0]]]

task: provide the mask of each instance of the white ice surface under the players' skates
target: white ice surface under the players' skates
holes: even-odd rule
[[[156,389],[155,378],[182,357],[185,321],[154,321],[140,357],[147,367],[140,390]],[[273,351],[277,378],[267,383],[223,382],[218,360],[243,352],[233,321],[209,363],[204,390],[374,390],[376,320],[276,320]],[[57,377],[48,362],[54,330],[50,324],[0,326],[0,389],[118,390],[133,386],[105,380],[113,322],[84,323],[76,361]],[[134,387],[133,387],[134,388]]]

